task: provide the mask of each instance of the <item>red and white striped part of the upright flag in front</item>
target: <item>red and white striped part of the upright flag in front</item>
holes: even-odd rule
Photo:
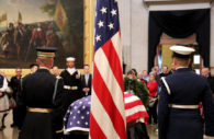
[[[121,36],[116,33],[94,54],[90,138],[125,139]]]

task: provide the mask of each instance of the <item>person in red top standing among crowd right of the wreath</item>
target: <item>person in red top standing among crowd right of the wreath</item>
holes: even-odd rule
[[[150,92],[149,100],[155,101],[154,99],[156,99],[157,96],[158,83],[155,80],[155,76],[153,73],[149,74],[149,81],[147,82],[147,88]],[[148,123],[151,124],[151,119],[154,119],[154,124],[157,124],[157,100],[153,105],[149,105],[148,114],[149,114]]]

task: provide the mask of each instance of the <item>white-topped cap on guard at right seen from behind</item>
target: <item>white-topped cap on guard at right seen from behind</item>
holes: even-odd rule
[[[181,45],[171,46],[170,50],[173,51],[172,57],[178,57],[178,58],[190,58],[191,54],[195,51],[193,48],[181,46]]]

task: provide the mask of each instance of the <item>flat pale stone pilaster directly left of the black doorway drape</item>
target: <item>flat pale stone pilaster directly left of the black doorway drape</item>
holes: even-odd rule
[[[143,0],[132,0],[132,68],[147,70],[148,9]]]

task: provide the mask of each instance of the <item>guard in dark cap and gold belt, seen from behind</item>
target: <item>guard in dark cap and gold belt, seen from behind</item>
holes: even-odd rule
[[[56,139],[63,129],[63,80],[49,72],[56,48],[38,47],[40,69],[22,80],[19,106],[26,107],[19,139]]]

